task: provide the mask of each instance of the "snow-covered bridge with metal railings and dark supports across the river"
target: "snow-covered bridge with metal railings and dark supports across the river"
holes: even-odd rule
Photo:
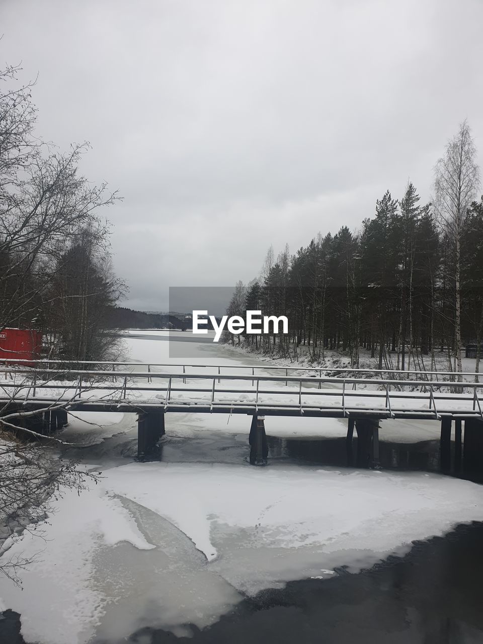
[[[483,383],[477,376],[270,365],[46,360],[12,365],[4,359],[0,416],[6,426],[50,435],[66,424],[69,412],[137,413],[138,458],[144,460],[165,432],[166,413],[242,413],[251,417],[253,464],[267,462],[265,416],[343,418],[348,456],[355,430],[357,463],[366,466],[378,461],[381,420],[424,419],[440,422],[443,470],[451,468],[453,423],[455,468],[464,459],[465,469],[477,470],[483,467]]]

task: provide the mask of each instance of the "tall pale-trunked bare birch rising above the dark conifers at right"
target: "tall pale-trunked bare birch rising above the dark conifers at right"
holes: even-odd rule
[[[464,120],[458,133],[448,141],[444,156],[435,166],[435,212],[452,252],[455,362],[462,372],[461,361],[461,237],[463,223],[480,184],[477,151],[468,123]],[[462,376],[458,377],[459,382]]]

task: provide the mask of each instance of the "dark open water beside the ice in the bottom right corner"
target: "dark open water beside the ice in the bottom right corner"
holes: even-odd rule
[[[469,644],[483,642],[483,524],[415,543],[359,574],[289,582],[242,601],[191,638],[143,629],[162,644]]]

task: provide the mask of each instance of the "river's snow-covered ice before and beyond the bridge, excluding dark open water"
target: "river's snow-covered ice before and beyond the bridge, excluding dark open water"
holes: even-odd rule
[[[131,359],[169,362],[168,343],[147,335],[128,339]],[[227,346],[193,345],[198,364],[256,362]],[[135,440],[129,414],[79,413],[79,419],[63,437],[84,437],[101,455],[113,440]],[[187,449],[193,445],[190,460],[196,461],[196,437],[209,437],[213,462],[137,464],[106,457],[97,486],[55,502],[57,511],[41,526],[43,538],[35,536],[37,529],[10,544],[4,557],[37,555],[20,573],[23,589],[0,578],[0,605],[21,613],[26,641],[115,641],[147,625],[186,634],[185,624],[213,623],[245,593],[331,576],[341,565],[357,571],[407,551],[412,540],[483,520],[483,489],[471,482],[276,461],[252,468],[229,456],[232,443],[216,451],[227,434],[240,435],[244,444],[246,416],[172,413],[166,422],[167,437],[185,437]],[[272,417],[265,424],[279,436],[346,431],[336,419]],[[382,424],[382,439],[415,436],[439,437],[439,424]]]

